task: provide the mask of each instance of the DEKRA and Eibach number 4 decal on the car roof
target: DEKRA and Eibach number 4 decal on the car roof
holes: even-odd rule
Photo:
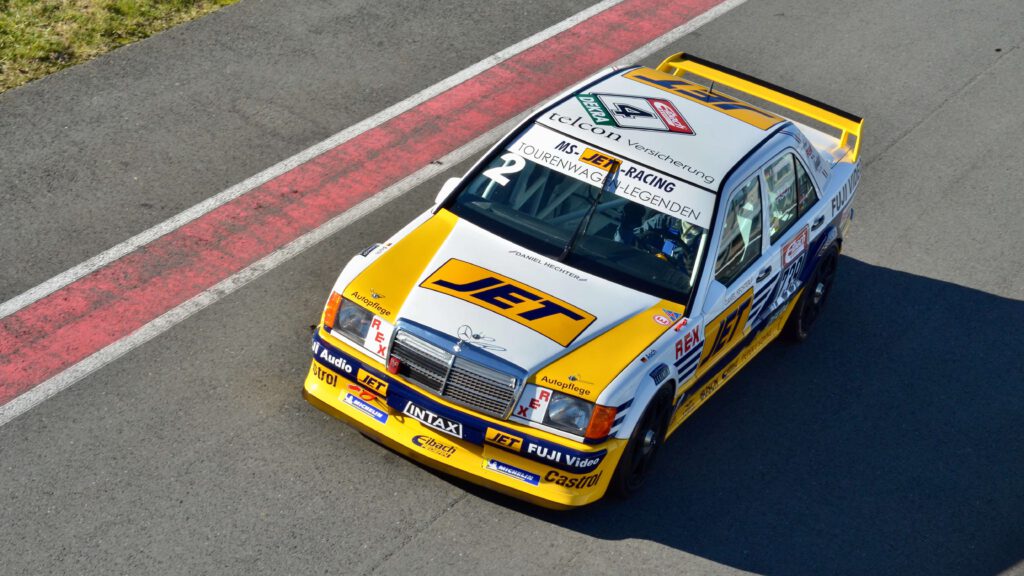
[[[577,100],[595,124],[634,130],[692,135],[693,128],[675,106],[662,98],[623,94],[579,94]]]

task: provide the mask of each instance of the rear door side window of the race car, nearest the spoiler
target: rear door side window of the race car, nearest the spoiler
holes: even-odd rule
[[[774,244],[801,216],[818,201],[811,176],[793,154],[786,154],[765,167],[768,188],[768,214],[771,242]]]

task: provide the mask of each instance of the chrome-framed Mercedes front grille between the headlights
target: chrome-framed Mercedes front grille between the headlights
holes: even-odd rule
[[[464,358],[453,359],[452,353],[403,330],[395,334],[391,356],[400,361],[399,374],[456,404],[504,418],[515,402],[514,376]]]

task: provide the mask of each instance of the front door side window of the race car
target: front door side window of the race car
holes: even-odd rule
[[[728,286],[761,256],[761,183],[755,175],[729,200],[715,279]]]

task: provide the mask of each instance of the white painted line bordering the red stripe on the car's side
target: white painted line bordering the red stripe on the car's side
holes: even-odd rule
[[[684,35],[696,30],[700,26],[708,24],[709,22],[715,19],[716,17],[726,13],[732,8],[742,4],[746,0],[727,0],[717,7],[712,8],[708,12],[705,12],[700,16],[693,18],[692,20],[686,23],[685,25],[672,30],[665,36],[650,42],[643,48],[640,48],[633,53],[629,54],[625,58],[618,60],[618,63],[632,63],[640,60],[651,53],[662,49],[667,44],[678,40]],[[602,3],[599,5],[607,4],[608,6],[614,4],[615,2]],[[596,6],[595,6],[596,7]],[[607,7],[607,6],[605,6]],[[593,9],[593,8],[592,8]],[[603,9],[603,8],[602,8]],[[599,11],[599,10],[598,10]],[[583,12],[581,12],[583,13]],[[709,15],[710,14],[710,15]],[[579,14],[578,14],[579,15]],[[583,18],[582,18],[583,19]],[[549,29],[550,30],[550,29]],[[542,33],[543,34],[543,33]],[[499,54],[503,53],[499,52]],[[498,54],[496,54],[497,56]],[[495,56],[492,56],[495,57]],[[507,57],[507,56],[506,56]],[[475,67],[473,67],[475,68]],[[467,69],[470,70],[470,69]],[[472,76],[472,75],[470,75]],[[429,90],[429,88],[428,88]],[[422,92],[421,92],[422,93]],[[397,105],[396,105],[397,106]],[[391,109],[388,109],[391,110]],[[386,111],[385,111],[386,112]],[[383,113],[382,113],[383,114]],[[402,180],[388,187],[387,189],[381,191],[380,193],[374,195],[371,198],[364,200],[362,202],[356,204],[349,210],[335,216],[334,218],[328,220],[319,228],[312,230],[305,235],[297,238],[291,243],[283,246],[282,248],[275,250],[274,252],[267,254],[263,258],[253,262],[252,264],[246,266],[242,271],[233,274],[232,276],[224,279],[223,281],[217,283],[216,285],[204,290],[200,294],[191,297],[190,299],[178,304],[174,308],[171,308],[167,313],[163,314],[153,322],[150,322],[142,328],[132,332],[131,334],[121,338],[117,342],[108,345],[106,347],[92,354],[88,358],[81,360],[74,366],[63,370],[59,374],[50,377],[49,379],[43,381],[34,388],[26,392],[25,394],[14,398],[4,406],[0,406],[0,426],[6,424],[7,422],[13,420],[19,415],[28,412],[32,408],[38,406],[43,401],[53,397],[60,390],[63,390],[74,384],[75,382],[81,380],[82,378],[88,376],[89,374],[95,372],[96,370],[102,368],[106,364],[121,358],[130,351],[142,345],[143,343],[152,340],[153,338],[163,334],[164,332],[170,330],[175,325],[181,323],[191,315],[202,311],[203,308],[213,304],[217,300],[220,300],[224,296],[231,294],[239,288],[249,284],[253,280],[263,276],[267,272],[275,269],[276,266],[283,264],[284,262],[292,259],[293,257],[301,254],[306,249],[319,244],[325,239],[334,235],[337,232],[344,230],[349,224],[355,222],[359,218],[362,218],[367,214],[377,210],[388,202],[401,197],[409,191],[420,186],[427,179],[439,174],[443,170],[446,170],[453,164],[462,162],[463,160],[479,153],[481,150],[490,146],[495,140],[504,135],[506,132],[511,130],[517,122],[522,120],[527,113],[521,114],[514,118],[511,118],[500,126],[488,130],[484,134],[477,136],[470,142],[460,147],[457,150],[452,151],[443,158],[440,159],[438,164],[428,164],[423,168],[420,168],[413,174],[407,176]],[[376,118],[376,117],[375,117]],[[366,122],[366,121],[365,121]],[[382,120],[383,122],[383,120]],[[364,124],[364,123],[360,123]],[[362,130],[366,130],[370,126],[365,126]],[[344,133],[344,132],[341,132]],[[340,135],[340,134],[339,134]],[[338,136],[333,136],[338,137]],[[351,137],[351,135],[349,135]],[[344,141],[344,140],[341,140]],[[340,143],[340,142],[338,142]],[[313,147],[309,150],[318,149],[321,145]],[[337,145],[335,145],[337,146]],[[331,148],[331,147],[329,147]],[[328,148],[328,149],[329,149]],[[321,153],[328,150],[322,149]],[[304,154],[304,153],[303,153]],[[316,153],[319,154],[319,153]],[[316,154],[310,156],[312,158]],[[295,158],[295,157],[293,157]],[[293,158],[286,160],[285,162],[292,161]],[[278,166],[280,166],[279,164]],[[276,167],[276,166],[275,166]],[[270,168],[273,169],[273,168]],[[252,178],[249,178],[245,182],[238,184],[241,187],[254,178],[258,178],[263,174],[257,174]],[[265,180],[264,180],[265,181]],[[258,184],[254,184],[258,186]],[[224,193],[234,190],[237,187],[228,189]],[[242,193],[240,193],[242,194]],[[211,199],[212,200],[212,199]],[[199,204],[197,206],[201,206]],[[182,212],[183,214],[184,212]],[[195,217],[195,216],[194,216]],[[173,218],[172,218],[173,219]],[[170,220],[168,220],[170,221]],[[180,225],[180,224],[179,224]],[[173,230],[173,229],[171,229]],[[169,231],[164,232],[166,234]],[[138,237],[136,237],[138,238]],[[133,239],[134,240],[134,239]],[[129,241],[130,242],[130,241]],[[98,256],[97,256],[98,258]],[[93,258],[95,259],[95,258]],[[92,260],[89,260],[92,261]],[[83,264],[84,265],[84,264]],[[74,270],[74,269],[73,269]],[[69,271],[71,272],[71,271]]]

